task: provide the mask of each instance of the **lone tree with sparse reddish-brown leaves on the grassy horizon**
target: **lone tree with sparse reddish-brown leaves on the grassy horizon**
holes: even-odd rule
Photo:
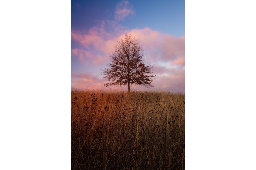
[[[151,71],[153,66],[142,59],[144,52],[140,41],[131,34],[125,34],[125,37],[117,41],[114,48],[109,56],[108,68],[102,70],[102,74],[105,75],[103,78],[110,81],[104,86],[128,84],[128,92],[130,92],[130,84],[153,87],[151,82],[155,76],[148,75],[153,73]]]

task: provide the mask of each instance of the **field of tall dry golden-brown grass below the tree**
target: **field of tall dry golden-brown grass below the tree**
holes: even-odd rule
[[[185,169],[185,95],[72,91],[72,169]]]

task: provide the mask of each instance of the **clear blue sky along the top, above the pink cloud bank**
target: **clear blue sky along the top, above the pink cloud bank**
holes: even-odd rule
[[[99,20],[114,20],[120,1],[72,1],[72,28],[90,29]],[[185,35],[185,1],[129,1],[135,14],[120,21],[130,29],[149,27],[175,37]]]

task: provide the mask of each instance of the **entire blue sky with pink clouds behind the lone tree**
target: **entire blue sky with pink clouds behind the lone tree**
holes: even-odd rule
[[[185,92],[185,1],[72,1],[72,89],[104,87],[101,69],[107,67],[114,45],[126,33],[140,40],[144,61],[154,66],[154,87]],[[123,85],[122,89],[127,89]]]

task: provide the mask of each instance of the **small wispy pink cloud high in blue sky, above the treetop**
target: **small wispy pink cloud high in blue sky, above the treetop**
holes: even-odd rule
[[[124,20],[128,15],[135,14],[133,6],[128,1],[120,1],[116,4],[115,20]]]

